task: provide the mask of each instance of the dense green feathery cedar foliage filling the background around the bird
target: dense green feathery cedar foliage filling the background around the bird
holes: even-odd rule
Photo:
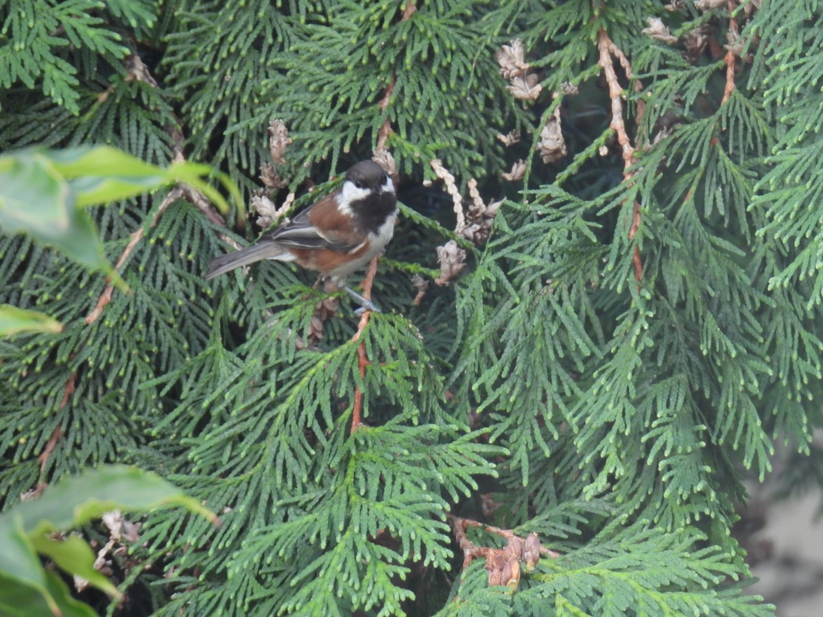
[[[4,2],[0,147],[106,142],[165,164],[182,136],[249,195],[283,118],[277,171],[302,206],[306,179],[369,156],[388,122],[406,206],[363,377],[347,300],[319,348],[298,345],[324,297],[308,273],[202,280],[221,234],[252,225],[184,200],[151,225],[164,194],[96,211],[111,262],[146,236],[121,268],[133,293],[91,324],[99,276],[2,238],[0,301],[65,325],[0,343],[2,498],[128,462],[220,513],[219,528],[146,519],[115,572],[137,612],[769,615],[730,530],[742,476],[762,479],[777,441],[811,456],[821,425],[821,11],[679,4]],[[644,35],[650,16],[677,42]],[[604,35],[630,65],[607,53],[630,169]],[[495,63],[512,39],[534,101]],[[558,106],[568,154],[544,164]],[[508,200],[485,245],[461,240],[463,276],[418,307],[410,274],[436,276],[453,237],[449,195],[420,188],[435,157],[464,193],[476,178]],[[518,159],[525,178],[504,182]],[[561,556],[514,593],[488,587],[482,559],[461,573],[446,513],[537,531]]]

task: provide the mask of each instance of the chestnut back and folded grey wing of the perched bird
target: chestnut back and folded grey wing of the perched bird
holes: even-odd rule
[[[350,253],[362,244],[351,219],[337,209],[333,194],[300,212],[286,225],[267,231],[260,239],[288,248],[327,248],[337,253]]]

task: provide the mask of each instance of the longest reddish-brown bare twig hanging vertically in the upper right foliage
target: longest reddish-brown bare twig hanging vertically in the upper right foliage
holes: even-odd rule
[[[614,44],[606,30],[602,28],[597,30],[597,51],[600,54],[599,64],[603,68],[606,76],[606,82],[609,86],[609,99],[611,99],[611,128],[617,135],[617,142],[623,151],[623,179],[630,180],[632,172],[629,170],[635,164],[635,148],[631,145],[629,134],[625,130],[625,123],[623,122],[623,89],[620,81],[617,79],[615,72],[614,60],[612,56],[617,58],[618,62],[623,67],[623,72],[627,78],[631,78],[631,65],[628,58],[621,51],[620,48]],[[643,109],[639,108],[639,114],[643,113]],[[629,227],[629,239],[634,239],[635,234],[640,226],[640,204],[635,200],[634,207],[631,213],[631,224]],[[635,251],[631,257],[632,265],[635,267],[635,281],[638,283],[643,280],[643,260],[640,258],[640,249],[635,244]]]

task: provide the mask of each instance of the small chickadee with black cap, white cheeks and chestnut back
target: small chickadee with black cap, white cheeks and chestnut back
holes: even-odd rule
[[[346,276],[383,251],[392,239],[397,217],[392,176],[373,160],[361,160],[346,172],[336,192],[267,231],[255,244],[212,259],[205,278],[208,281],[263,259],[295,262],[328,277],[361,307],[377,311],[374,304],[345,285]]]

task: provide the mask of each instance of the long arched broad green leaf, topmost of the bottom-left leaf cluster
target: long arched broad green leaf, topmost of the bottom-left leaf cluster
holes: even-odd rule
[[[216,521],[196,499],[160,476],[124,465],[101,466],[60,480],[15,511],[21,515],[26,533],[31,534],[72,529],[110,510],[146,511],[171,504]]]

